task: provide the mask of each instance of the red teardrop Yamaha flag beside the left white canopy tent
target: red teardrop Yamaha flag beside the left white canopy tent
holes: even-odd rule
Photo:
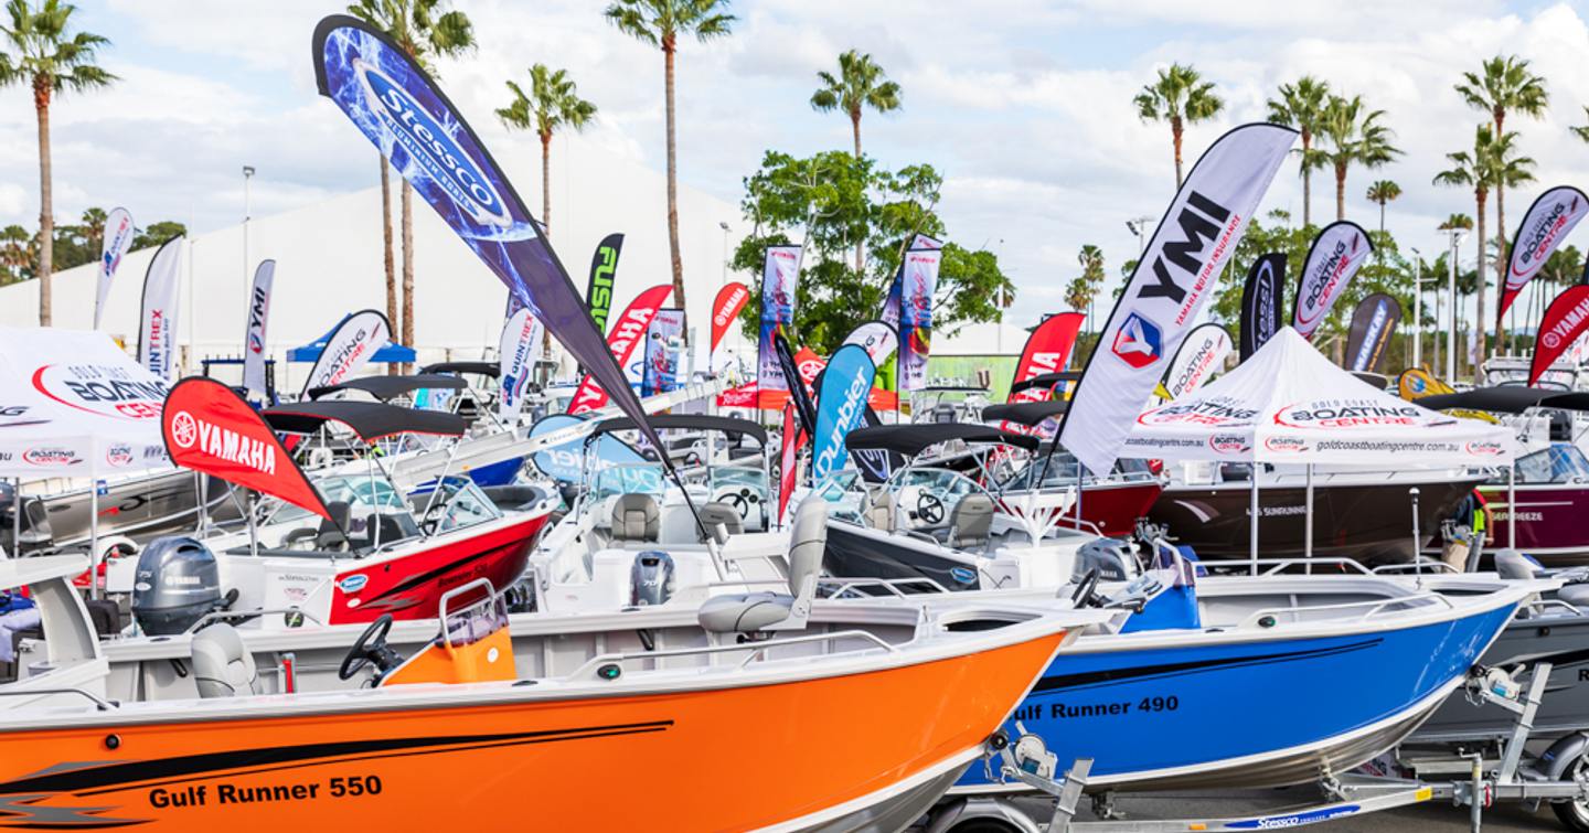
[[[331,518],[319,493],[259,412],[213,378],[191,377],[172,388],[160,413],[160,434],[178,466]]]

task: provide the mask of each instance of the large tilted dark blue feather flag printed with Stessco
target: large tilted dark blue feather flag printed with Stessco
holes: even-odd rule
[[[315,27],[313,52],[319,92],[661,448],[567,269],[502,169],[424,70],[391,38],[343,14]]]

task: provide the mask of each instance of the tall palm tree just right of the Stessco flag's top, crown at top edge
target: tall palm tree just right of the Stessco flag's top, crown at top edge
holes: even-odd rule
[[[667,248],[674,262],[674,300],[685,304],[685,261],[679,254],[679,148],[674,126],[674,56],[679,52],[679,35],[694,35],[706,43],[721,38],[734,25],[734,16],[725,14],[728,0],[613,0],[602,14],[620,32],[663,51],[663,92],[667,122]],[[685,345],[690,342],[690,313],[683,315]]]

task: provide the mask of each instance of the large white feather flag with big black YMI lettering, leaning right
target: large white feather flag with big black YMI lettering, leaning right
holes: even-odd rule
[[[1109,313],[1060,424],[1060,442],[1082,466],[1114,467],[1295,140],[1290,127],[1246,124],[1192,167]]]

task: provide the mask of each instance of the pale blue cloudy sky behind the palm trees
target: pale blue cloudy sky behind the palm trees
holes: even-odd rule
[[[230,226],[243,215],[245,164],[257,170],[254,216],[378,181],[369,145],[315,94],[310,33],[342,5],[78,5],[78,25],[113,41],[100,64],[121,83],[52,110],[57,223],[89,205],[127,205],[140,223]],[[599,107],[590,140],[663,167],[661,54],[607,24],[602,5],[453,0],[474,21],[478,49],[443,60],[442,84],[488,145],[502,140],[493,110],[507,103],[504,81],[543,62],[566,68]],[[871,52],[901,84],[904,107],[863,118],[866,153],[885,167],[926,162],[945,176],[949,237],[999,254],[1020,291],[1009,316],[1017,324],[1063,308],[1084,243],[1103,248],[1119,280],[1138,248],[1125,221],[1163,213],[1174,189],[1170,127],[1139,121],[1131,97],[1170,62],[1193,64],[1227,102],[1219,118],[1189,127],[1187,167],[1224,130],[1262,119],[1276,87],[1305,73],[1384,110],[1405,156],[1352,170],[1347,218],[1378,226],[1363,192],[1394,180],[1403,196],[1386,224],[1430,259],[1444,246],[1435,226],[1452,211],[1475,213],[1470,191],[1430,181],[1486,118],[1452,91],[1484,57],[1529,59],[1551,95],[1543,119],[1508,119],[1540,180],[1510,197],[1508,224],[1543,188],[1586,184],[1589,145],[1568,127],[1589,122],[1589,3],[739,0],[729,11],[733,37],[680,48],[680,180],[737,203],[740,180],[767,149],[850,148],[849,119],[814,111],[809,99],[815,73],[836,72],[839,52]],[[29,92],[0,91],[0,224],[37,226],[37,165]],[[1316,221],[1333,219],[1333,183],[1316,176]],[[1268,208],[1300,216],[1293,164]]]

